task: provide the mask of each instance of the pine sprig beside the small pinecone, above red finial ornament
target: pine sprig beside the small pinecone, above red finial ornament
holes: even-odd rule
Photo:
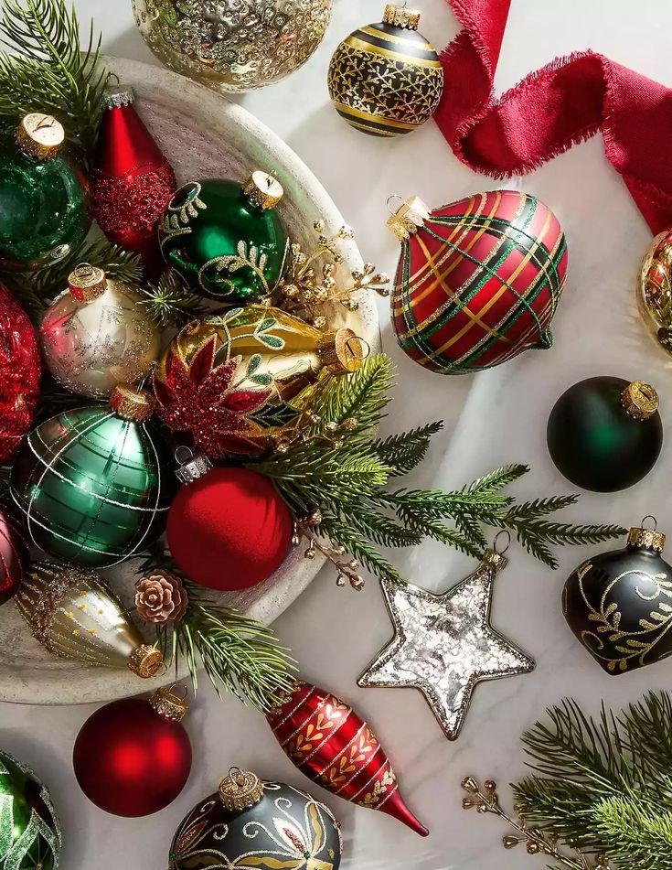
[[[272,628],[230,607],[211,604],[161,544],[153,548],[140,570],[144,574],[152,568],[176,574],[187,588],[187,614],[170,628],[158,627],[157,639],[176,671],[180,660],[186,661],[195,692],[199,662],[218,694],[223,688],[261,712],[272,706],[279,693],[291,689],[295,662]]]

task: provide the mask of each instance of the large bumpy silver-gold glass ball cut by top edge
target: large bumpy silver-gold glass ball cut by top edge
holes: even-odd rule
[[[216,91],[280,81],[325,36],[332,0],[133,0],[144,41],[166,67]]]

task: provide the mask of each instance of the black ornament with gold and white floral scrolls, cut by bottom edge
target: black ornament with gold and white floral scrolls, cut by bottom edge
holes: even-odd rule
[[[338,870],[343,843],[323,803],[283,782],[231,768],[177,829],[168,870],[293,867]]]

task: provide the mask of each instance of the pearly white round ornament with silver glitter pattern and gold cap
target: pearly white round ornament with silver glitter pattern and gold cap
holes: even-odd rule
[[[106,399],[122,381],[142,381],[161,347],[161,330],[140,305],[140,291],[81,263],[42,320],[39,338],[59,384]]]

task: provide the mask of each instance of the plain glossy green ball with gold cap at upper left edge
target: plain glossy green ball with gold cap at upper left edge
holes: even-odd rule
[[[0,269],[55,263],[76,248],[91,225],[80,170],[59,155],[63,127],[29,114],[16,142],[0,146]]]

